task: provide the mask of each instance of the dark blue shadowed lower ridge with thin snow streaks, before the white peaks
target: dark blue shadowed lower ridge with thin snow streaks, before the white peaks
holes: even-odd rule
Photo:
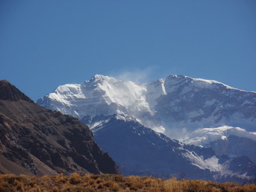
[[[123,175],[241,183],[256,178],[256,165],[247,157],[218,156],[211,148],[179,143],[119,115],[86,116],[83,121]]]

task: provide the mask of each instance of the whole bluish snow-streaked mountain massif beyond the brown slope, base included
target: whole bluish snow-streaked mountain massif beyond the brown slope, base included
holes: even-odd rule
[[[248,145],[254,142],[256,129],[255,92],[177,75],[144,84],[95,75],[81,84],[59,86],[37,104],[87,123],[97,143],[126,175],[220,182],[256,176],[255,155],[241,156],[256,148]],[[211,130],[204,131],[205,127]],[[232,134],[236,130],[243,134]],[[243,140],[239,148],[249,152],[231,150],[236,139]],[[227,150],[214,147],[218,144]]]

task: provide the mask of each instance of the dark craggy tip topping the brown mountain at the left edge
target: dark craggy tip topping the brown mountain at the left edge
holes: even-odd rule
[[[30,101],[33,102],[29,97],[22,93],[19,89],[9,83],[7,80],[0,81],[0,99],[9,101]]]

